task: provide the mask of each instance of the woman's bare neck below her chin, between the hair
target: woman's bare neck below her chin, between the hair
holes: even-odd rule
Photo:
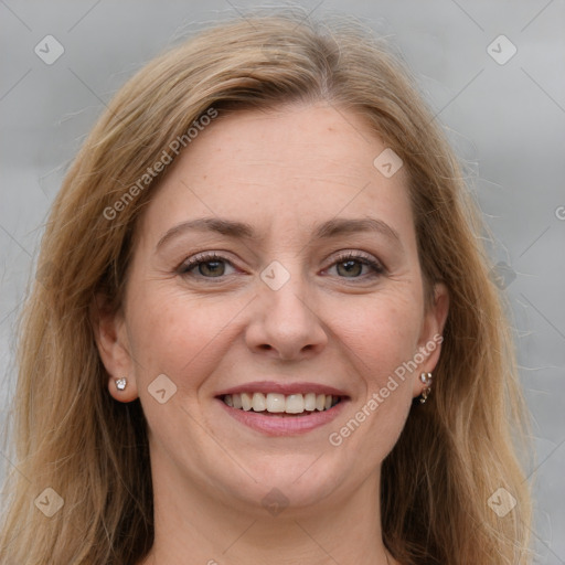
[[[139,565],[396,564],[382,543],[379,472],[348,497],[270,513],[163,479],[153,468],[154,543]]]

